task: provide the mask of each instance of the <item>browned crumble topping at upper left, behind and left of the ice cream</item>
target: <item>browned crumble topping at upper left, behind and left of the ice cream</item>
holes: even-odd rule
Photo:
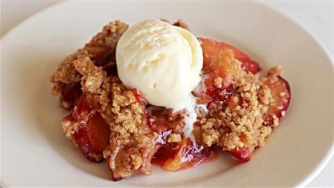
[[[54,87],[51,89],[51,94],[60,96],[59,105],[64,109],[72,109],[74,107],[74,99],[65,100],[63,96],[63,90],[65,84],[77,83],[81,80],[81,75],[79,70],[84,68],[84,63],[87,61],[92,61],[93,64],[101,66],[100,59],[102,61],[104,54],[114,54],[116,49],[116,44],[118,39],[128,28],[128,25],[116,20],[115,22],[110,22],[108,25],[104,26],[102,32],[97,33],[84,48],[79,49],[74,54],[67,56],[63,62],[58,65],[56,71],[50,77],[50,81],[54,84]],[[113,58],[115,59],[115,58]],[[74,62],[77,65],[77,68],[74,67]],[[106,67],[110,66],[114,62],[107,62]],[[81,65],[82,64],[82,65]],[[81,68],[79,66],[81,65]],[[81,70],[82,72],[82,70]],[[92,83],[90,77],[84,80],[85,84],[96,85]],[[97,77],[95,78],[97,79]],[[101,77],[100,77],[101,80]],[[90,88],[94,90],[95,88]]]

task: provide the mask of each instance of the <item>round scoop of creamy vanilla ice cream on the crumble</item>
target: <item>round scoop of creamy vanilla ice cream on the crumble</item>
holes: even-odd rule
[[[186,108],[200,81],[202,48],[186,29],[150,19],[131,26],[116,47],[122,84],[155,106]]]

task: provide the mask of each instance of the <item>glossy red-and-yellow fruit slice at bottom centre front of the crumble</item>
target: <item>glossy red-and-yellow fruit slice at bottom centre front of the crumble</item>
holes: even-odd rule
[[[152,162],[168,171],[188,169],[203,162],[212,155],[211,148],[193,146],[189,138],[180,143],[169,143],[161,146],[154,154]]]

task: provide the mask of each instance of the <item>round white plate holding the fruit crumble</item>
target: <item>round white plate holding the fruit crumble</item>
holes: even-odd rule
[[[216,162],[112,182],[105,163],[87,162],[65,139],[49,75],[113,19],[182,18],[197,36],[230,42],[261,62],[283,65],[292,101],[278,127],[241,164]],[[283,187],[305,185],[333,154],[333,59],[308,33],[260,3],[67,2],[30,17],[1,41],[1,183],[6,186]]]

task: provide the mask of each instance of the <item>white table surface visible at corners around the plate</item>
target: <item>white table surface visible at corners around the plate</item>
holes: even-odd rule
[[[1,37],[27,17],[58,1],[2,1]],[[334,55],[334,1],[264,1],[310,31]],[[307,187],[334,187],[334,159]]]

